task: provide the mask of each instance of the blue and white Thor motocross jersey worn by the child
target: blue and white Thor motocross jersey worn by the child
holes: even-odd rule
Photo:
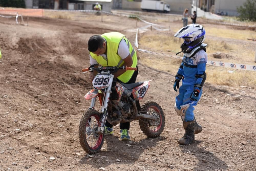
[[[179,75],[183,75],[182,83],[201,84],[202,78],[196,78],[196,75],[203,74],[206,69],[207,54],[201,49],[194,56],[182,59],[181,66],[178,70]],[[176,77],[177,79],[177,77]]]

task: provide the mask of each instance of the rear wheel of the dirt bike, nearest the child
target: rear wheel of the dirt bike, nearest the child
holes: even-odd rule
[[[164,130],[165,117],[164,112],[159,104],[153,101],[148,101],[143,104],[141,110],[144,114],[157,117],[157,121],[142,118],[139,120],[139,125],[142,132],[149,138],[158,137]]]

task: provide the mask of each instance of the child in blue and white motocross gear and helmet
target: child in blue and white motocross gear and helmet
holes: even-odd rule
[[[182,80],[179,95],[175,99],[174,109],[181,116],[185,129],[185,134],[178,140],[178,143],[187,145],[194,143],[195,134],[202,131],[202,127],[196,122],[193,111],[202,95],[202,87],[206,80],[207,54],[205,47],[207,44],[203,43],[205,41],[205,29],[199,24],[187,25],[174,36],[184,40],[180,46],[184,57],[175,76],[173,88],[177,91],[176,88],[179,88],[179,82]]]

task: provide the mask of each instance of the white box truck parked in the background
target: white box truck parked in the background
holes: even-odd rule
[[[162,12],[162,13],[169,13],[170,12],[170,5],[164,3],[163,1],[148,1],[142,0],[141,1],[141,9],[147,12]]]

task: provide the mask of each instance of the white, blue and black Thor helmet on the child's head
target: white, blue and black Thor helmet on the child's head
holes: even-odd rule
[[[200,24],[189,24],[177,31],[174,37],[183,38],[184,43],[180,49],[184,54],[190,53],[205,41],[205,29]]]

